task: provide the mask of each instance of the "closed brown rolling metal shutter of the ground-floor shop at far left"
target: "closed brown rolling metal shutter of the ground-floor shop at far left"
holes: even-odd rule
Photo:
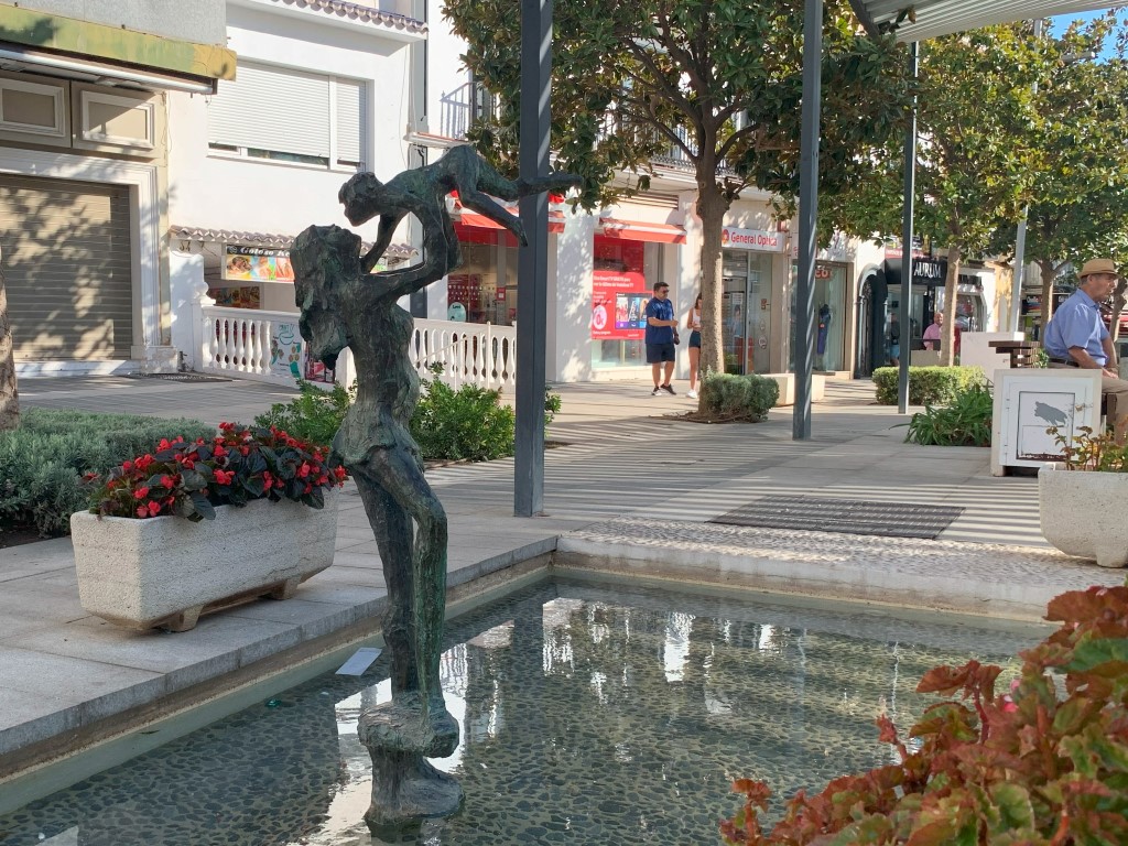
[[[130,358],[127,187],[0,176],[0,245],[17,361]]]

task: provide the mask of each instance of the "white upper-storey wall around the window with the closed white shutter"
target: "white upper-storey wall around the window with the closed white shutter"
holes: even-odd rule
[[[271,8],[228,7],[229,46],[240,61],[364,79],[369,83],[364,160],[385,179],[406,169],[407,42],[387,37],[370,24],[343,27],[324,12],[299,18],[272,14]],[[323,25],[319,16],[334,25]],[[259,118],[275,121],[279,132],[285,132],[283,115]],[[173,226],[279,235],[297,235],[310,223],[347,226],[337,190],[351,171],[210,153],[202,96],[169,96],[169,139]],[[374,238],[376,224],[358,231]]]

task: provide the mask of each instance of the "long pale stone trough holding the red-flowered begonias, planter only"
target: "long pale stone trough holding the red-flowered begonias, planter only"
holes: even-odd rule
[[[72,514],[79,599],[111,623],[174,632],[257,597],[288,599],[333,563],[340,495],[326,492],[320,510],[267,500],[221,505],[199,523]]]

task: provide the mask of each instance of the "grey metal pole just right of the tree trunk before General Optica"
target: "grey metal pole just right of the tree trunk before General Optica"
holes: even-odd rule
[[[819,217],[819,115],[822,100],[822,0],[807,0],[803,20],[803,138],[799,166],[799,274],[795,279],[795,407],[792,440],[811,438],[814,361],[814,248]]]

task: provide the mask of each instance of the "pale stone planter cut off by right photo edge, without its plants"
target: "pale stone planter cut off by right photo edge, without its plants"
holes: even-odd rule
[[[1102,567],[1128,564],[1128,473],[1038,470],[1042,535],[1066,555]]]

